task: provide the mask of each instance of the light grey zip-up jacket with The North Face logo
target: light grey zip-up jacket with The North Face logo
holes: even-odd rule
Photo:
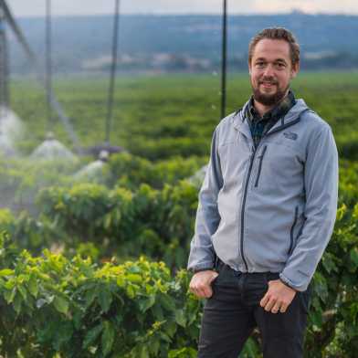
[[[247,104],[214,132],[188,269],[213,269],[217,255],[237,271],[280,272],[306,290],[337,211],[332,130],[297,100],[254,149]]]

